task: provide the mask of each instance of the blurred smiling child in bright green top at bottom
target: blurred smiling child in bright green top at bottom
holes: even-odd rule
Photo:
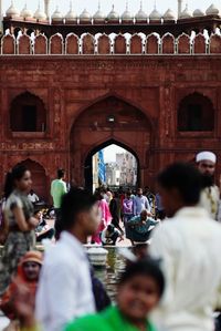
[[[149,312],[158,304],[165,287],[156,261],[141,259],[127,266],[117,291],[117,306],[70,323],[65,331],[155,331]]]

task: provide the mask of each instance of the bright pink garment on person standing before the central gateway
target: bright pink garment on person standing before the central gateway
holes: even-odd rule
[[[112,214],[109,211],[108,204],[105,199],[99,200],[98,207],[102,214],[102,220],[99,223],[98,229],[94,236],[92,236],[92,241],[96,244],[102,244],[99,234],[110,224],[112,221]]]

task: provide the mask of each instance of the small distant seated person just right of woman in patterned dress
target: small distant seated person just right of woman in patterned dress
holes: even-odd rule
[[[54,229],[46,224],[41,210],[35,210],[34,217],[39,219],[39,225],[35,228],[36,241],[41,242],[43,239],[52,239]]]

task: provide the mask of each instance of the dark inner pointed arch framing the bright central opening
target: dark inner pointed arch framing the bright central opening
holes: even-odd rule
[[[99,152],[101,149],[104,149],[105,147],[108,147],[110,145],[116,145],[119,146],[122,148],[124,148],[126,152],[129,152],[137,162],[137,180],[136,180],[136,186],[139,186],[140,183],[140,167],[139,167],[139,158],[136,155],[136,153],[128,146],[126,146],[125,144],[117,142],[115,139],[109,139],[107,142],[102,143],[101,145],[94,147],[87,155],[87,157],[85,158],[85,164],[84,164],[84,186],[92,190],[93,187],[93,156]]]

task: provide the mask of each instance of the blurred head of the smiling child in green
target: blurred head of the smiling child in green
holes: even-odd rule
[[[117,303],[129,320],[145,320],[165,289],[158,263],[149,258],[129,263],[118,283]]]

